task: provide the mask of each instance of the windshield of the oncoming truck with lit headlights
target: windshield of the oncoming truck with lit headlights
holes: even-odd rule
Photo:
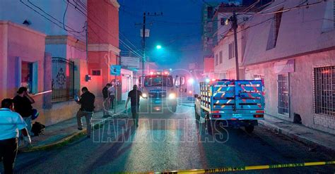
[[[173,86],[173,80],[172,76],[167,75],[151,75],[146,76],[144,81],[145,87],[172,87]]]

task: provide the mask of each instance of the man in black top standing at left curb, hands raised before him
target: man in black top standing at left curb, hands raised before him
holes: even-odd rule
[[[77,112],[77,124],[78,124],[78,130],[83,130],[83,122],[81,118],[85,116],[86,123],[87,123],[87,137],[90,138],[90,131],[92,129],[92,116],[94,111],[94,101],[95,101],[95,95],[88,91],[87,87],[83,87],[81,89],[81,98],[76,100],[78,104],[81,104],[81,108]]]

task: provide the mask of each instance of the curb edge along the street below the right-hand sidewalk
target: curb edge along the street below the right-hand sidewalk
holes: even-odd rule
[[[286,135],[287,137],[298,140],[299,142],[302,142],[304,144],[308,144],[308,145],[311,145],[311,146],[325,147],[326,149],[330,149],[332,151],[335,151],[335,147],[323,144],[322,142],[319,142],[316,139],[310,139],[308,137],[298,135],[298,134],[296,134],[294,132],[291,132],[290,130],[287,130],[285,128],[280,128],[277,125],[274,125],[272,123],[267,122],[266,120],[259,120],[259,124],[264,125],[265,127],[270,128],[272,130],[275,130],[276,132],[280,133],[281,135]]]

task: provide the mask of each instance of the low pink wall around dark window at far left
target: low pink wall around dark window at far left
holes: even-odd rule
[[[0,21],[1,98],[13,97],[20,87],[20,63],[37,63],[37,93],[44,91],[45,35],[8,21]],[[6,76],[6,77],[5,77]]]

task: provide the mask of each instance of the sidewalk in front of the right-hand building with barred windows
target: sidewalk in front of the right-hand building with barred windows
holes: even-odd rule
[[[304,125],[281,120],[273,116],[264,116],[264,120],[259,120],[259,124],[305,144],[318,145],[335,151],[335,136],[327,132],[307,128]]]

